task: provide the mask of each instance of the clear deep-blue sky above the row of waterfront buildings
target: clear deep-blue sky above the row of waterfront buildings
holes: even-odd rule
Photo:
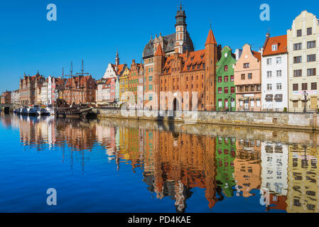
[[[46,6],[57,6],[57,21],[47,21]],[[260,21],[259,6],[270,6],[270,21]],[[18,89],[26,74],[61,75],[62,67],[85,70],[99,79],[119,50],[121,63],[141,61],[144,45],[156,34],[175,31],[179,0],[11,0],[0,3],[0,92]],[[204,48],[212,21],[217,43],[233,50],[245,43],[258,50],[265,34],[284,35],[294,18],[307,10],[319,17],[319,3],[307,1],[183,0],[195,50]]]

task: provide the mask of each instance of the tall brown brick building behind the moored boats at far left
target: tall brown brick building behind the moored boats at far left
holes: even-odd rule
[[[20,104],[23,106],[34,105],[40,98],[40,91],[45,78],[39,72],[30,77],[24,74],[20,79],[19,94]]]

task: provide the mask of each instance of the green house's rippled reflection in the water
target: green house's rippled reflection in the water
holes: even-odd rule
[[[234,182],[234,159],[236,139],[217,136],[216,138],[216,183],[222,187],[225,196],[232,197]]]

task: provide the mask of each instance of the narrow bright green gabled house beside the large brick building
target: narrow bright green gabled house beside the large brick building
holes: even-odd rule
[[[232,49],[225,46],[216,70],[216,110],[236,111],[236,89],[234,86],[234,65],[236,58]]]

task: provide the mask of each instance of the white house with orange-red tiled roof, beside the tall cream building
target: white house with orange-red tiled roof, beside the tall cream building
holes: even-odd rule
[[[287,35],[266,35],[261,55],[261,109],[288,111]]]

